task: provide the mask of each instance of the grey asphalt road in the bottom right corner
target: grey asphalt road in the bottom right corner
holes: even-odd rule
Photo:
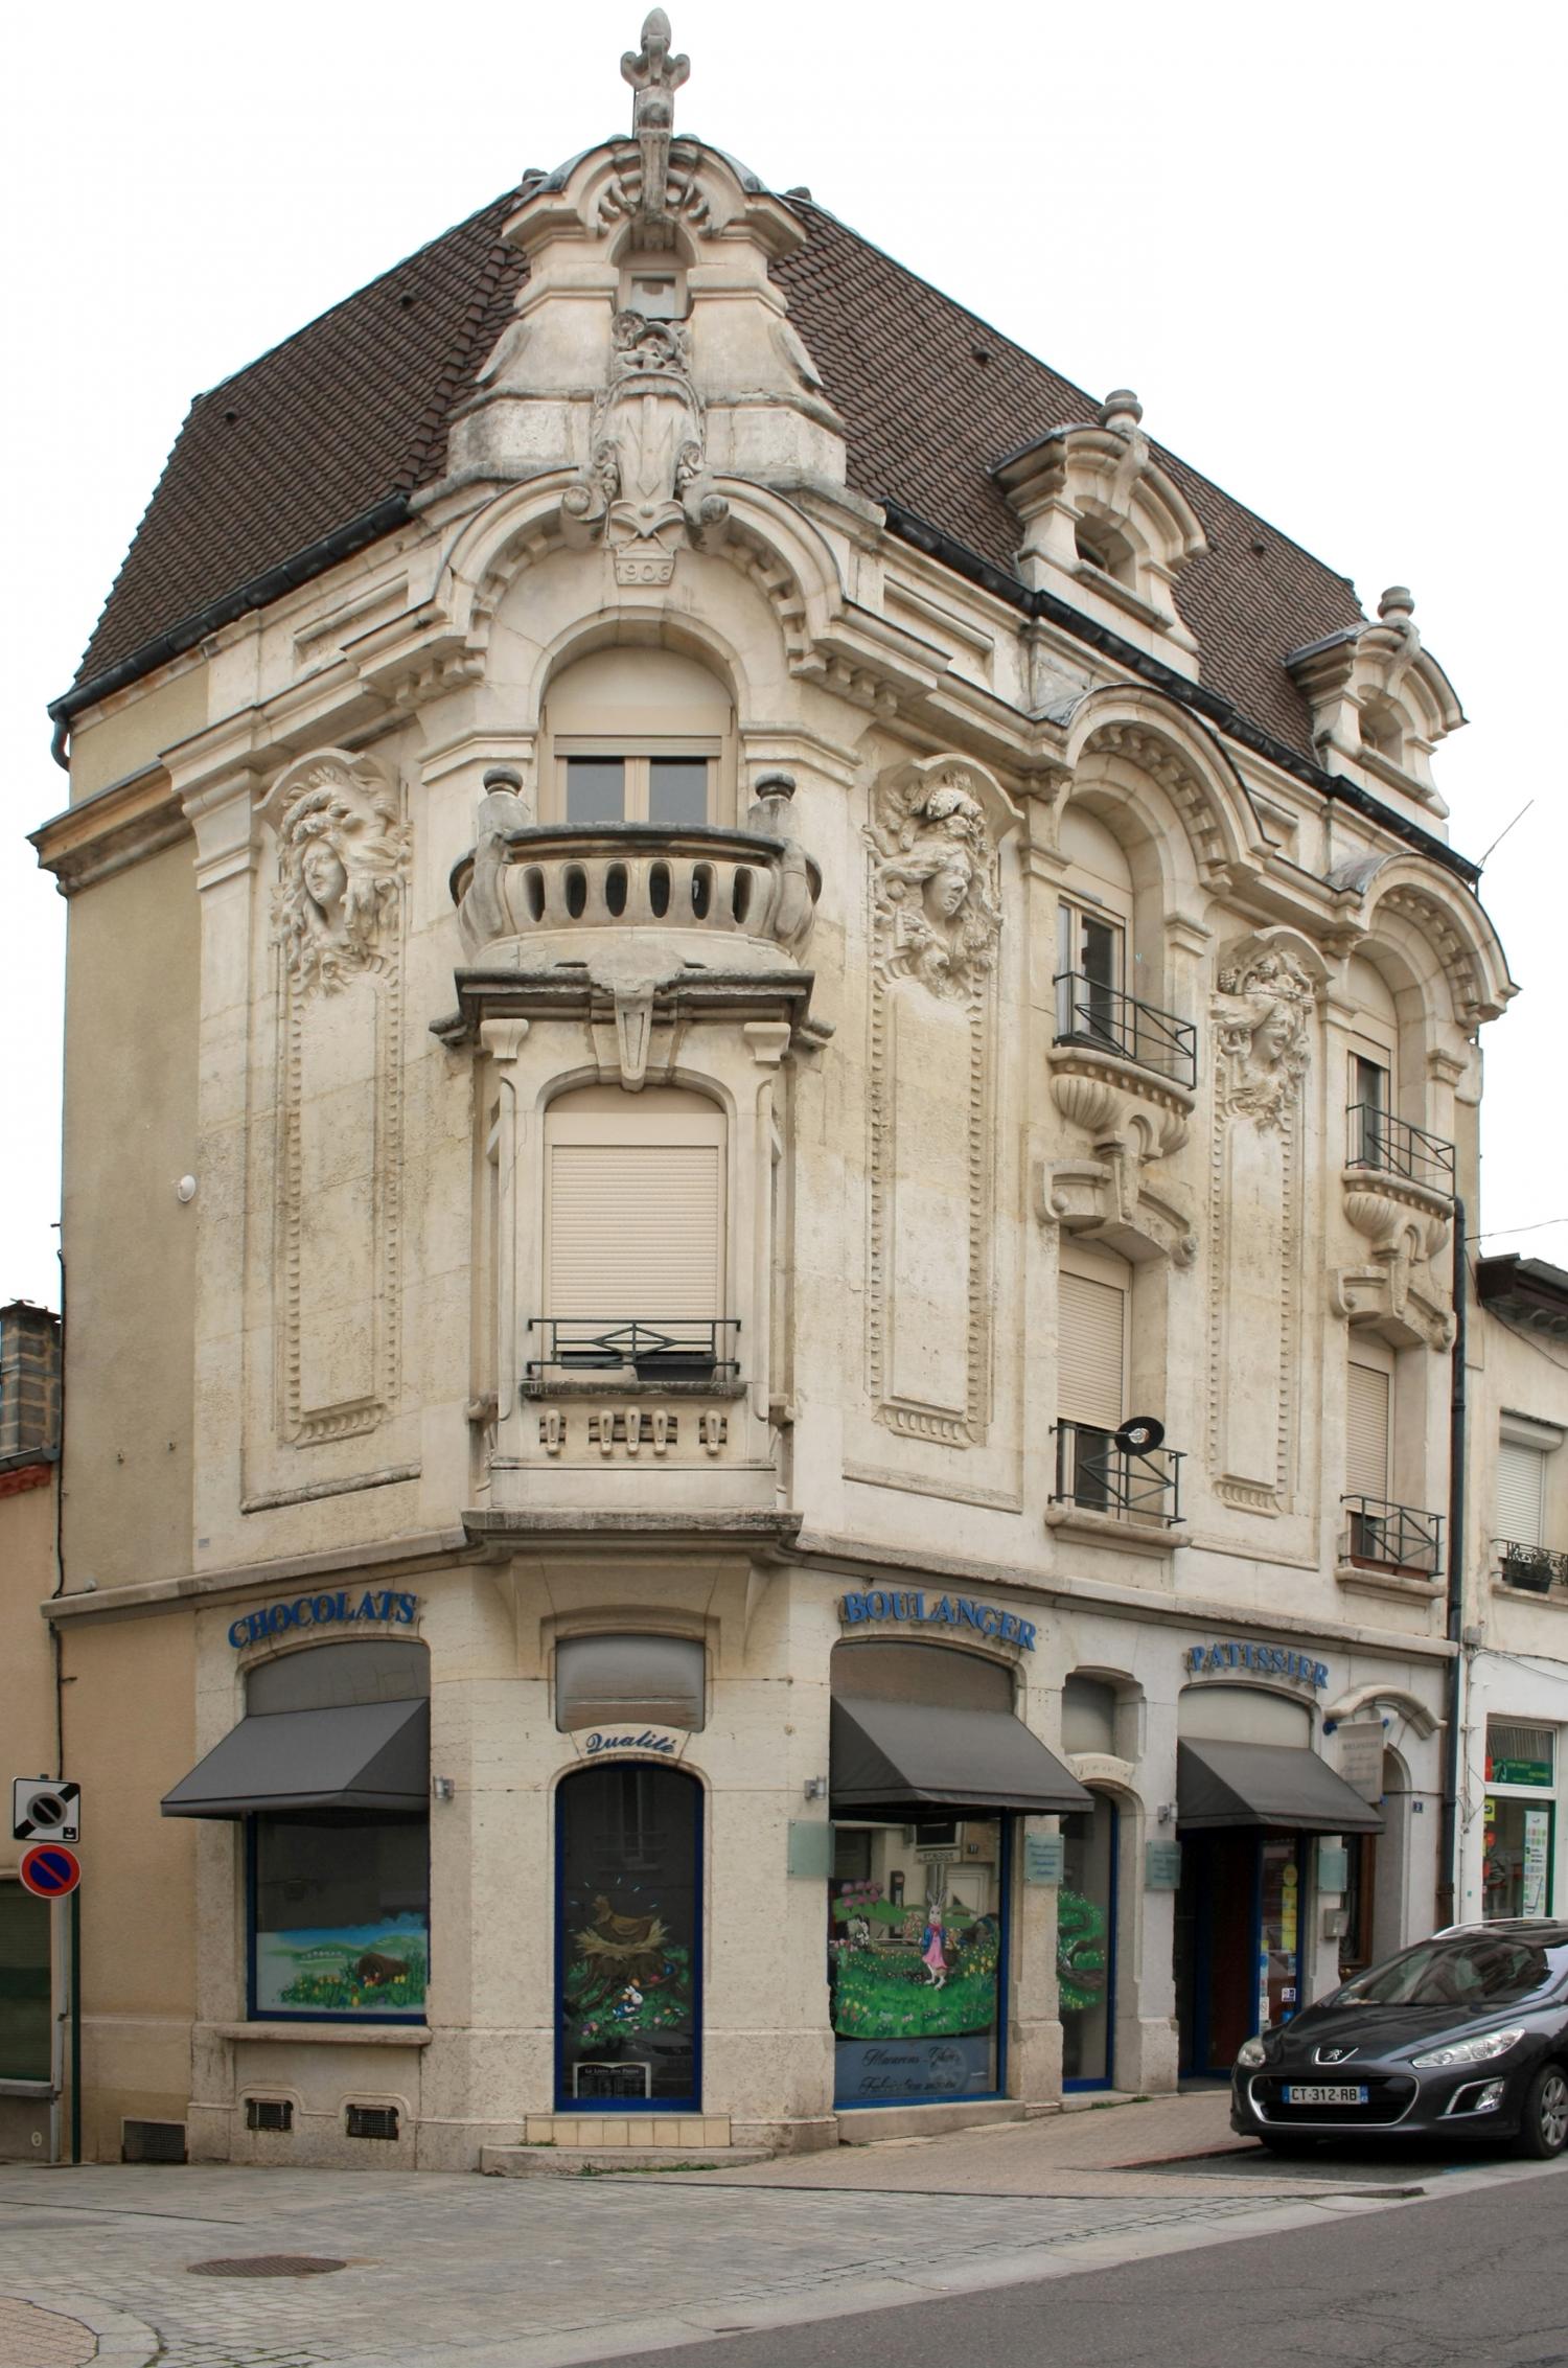
[[[687,2344],[658,2368],[1568,2368],[1561,2169],[1343,2214],[1267,2242]]]

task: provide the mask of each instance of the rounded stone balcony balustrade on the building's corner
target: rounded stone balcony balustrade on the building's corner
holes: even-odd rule
[[[526,824],[481,836],[452,869],[471,954],[535,942],[557,961],[578,935],[677,931],[701,935],[708,959],[744,964],[765,950],[777,964],[803,945],[820,890],[822,871],[793,838],[708,824]]]

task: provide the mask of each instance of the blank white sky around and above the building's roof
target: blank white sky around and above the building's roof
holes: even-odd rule
[[[1090,391],[1135,386],[1153,436],[1369,609],[1414,587],[1471,718],[1438,755],[1454,843],[1480,855],[1535,800],[1483,883],[1525,990],[1485,1032],[1487,1248],[1568,1265],[1561,12],[670,17],[680,128],[808,185]],[[640,19],[640,0],[85,0],[9,24],[0,1300],[59,1295],[64,905],[21,836],[66,796],[43,708],[185,407],[523,166],[625,130]],[[126,1208],[126,1255],[135,1238]]]

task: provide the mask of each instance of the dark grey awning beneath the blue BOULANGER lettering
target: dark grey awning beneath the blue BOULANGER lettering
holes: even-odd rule
[[[914,1809],[1090,1809],[1090,1795],[1011,1710],[834,1700],[834,1816],[907,1819]]]

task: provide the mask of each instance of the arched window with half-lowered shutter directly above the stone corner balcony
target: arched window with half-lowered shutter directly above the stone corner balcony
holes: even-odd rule
[[[545,701],[545,819],[689,829],[734,819],[734,710],[661,649],[580,658]]]

